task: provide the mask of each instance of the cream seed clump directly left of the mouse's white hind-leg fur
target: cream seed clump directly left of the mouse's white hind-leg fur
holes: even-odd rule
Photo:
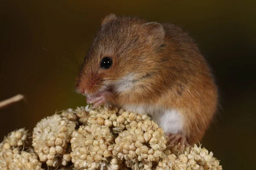
[[[132,125],[115,139],[114,156],[135,161],[159,161],[166,149],[166,136],[162,128],[151,120]]]

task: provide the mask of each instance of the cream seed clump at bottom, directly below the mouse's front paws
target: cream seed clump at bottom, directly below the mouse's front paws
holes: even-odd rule
[[[77,169],[96,169],[111,161],[114,139],[107,126],[97,124],[80,126],[73,132],[70,142],[72,148],[70,155]]]

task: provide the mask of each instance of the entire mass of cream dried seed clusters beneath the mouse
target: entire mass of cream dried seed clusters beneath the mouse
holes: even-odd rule
[[[196,145],[177,152],[149,116],[118,108],[68,109],[38,122],[33,148],[27,136],[20,129],[5,137],[1,170],[222,170],[212,152]]]

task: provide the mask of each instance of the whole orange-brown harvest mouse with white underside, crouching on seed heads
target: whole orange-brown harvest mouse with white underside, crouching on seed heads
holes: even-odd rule
[[[185,31],[115,14],[102,20],[76,90],[93,107],[110,104],[150,114],[171,144],[199,142],[218,105],[208,64]]]

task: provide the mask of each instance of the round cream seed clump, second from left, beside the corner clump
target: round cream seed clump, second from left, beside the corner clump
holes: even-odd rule
[[[67,165],[71,160],[69,143],[76,122],[55,114],[42,119],[33,131],[32,146],[40,161],[48,166]]]

